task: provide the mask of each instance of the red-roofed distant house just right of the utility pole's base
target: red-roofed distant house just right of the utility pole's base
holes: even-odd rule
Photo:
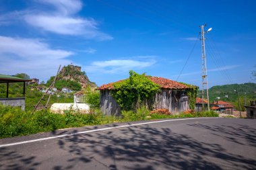
[[[210,103],[210,105],[211,110],[215,110],[216,112],[220,112],[222,114],[233,114],[234,105],[232,105],[232,103],[217,100]]]

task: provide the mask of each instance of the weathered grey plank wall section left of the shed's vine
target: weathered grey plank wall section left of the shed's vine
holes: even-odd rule
[[[110,116],[120,116],[121,108],[114,97],[110,95],[108,90],[100,90],[100,110]]]

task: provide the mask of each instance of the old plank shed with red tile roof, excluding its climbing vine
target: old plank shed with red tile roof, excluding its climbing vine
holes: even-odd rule
[[[169,112],[177,114],[189,110],[189,97],[187,90],[191,87],[165,79],[162,77],[148,77],[150,81],[160,85],[160,91],[154,96],[154,109],[167,109]],[[100,110],[106,115],[121,115],[121,107],[111,95],[113,83],[108,83],[99,87],[100,90]]]

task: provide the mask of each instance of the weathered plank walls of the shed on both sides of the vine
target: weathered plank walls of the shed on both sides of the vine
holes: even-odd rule
[[[149,104],[150,102],[146,102]],[[185,90],[162,89],[154,97],[154,109],[168,109],[172,114],[189,109],[189,99]],[[150,108],[150,107],[148,107]],[[110,91],[100,91],[100,110],[106,115],[121,115],[121,108]]]

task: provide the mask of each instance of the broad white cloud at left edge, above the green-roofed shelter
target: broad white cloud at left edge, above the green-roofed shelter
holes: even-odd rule
[[[46,80],[59,65],[67,65],[73,52],[58,50],[37,39],[0,36],[0,73],[27,73]]]

